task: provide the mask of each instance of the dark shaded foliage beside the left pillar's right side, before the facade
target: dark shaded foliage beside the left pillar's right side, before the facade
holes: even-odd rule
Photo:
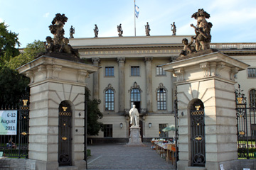
[[[103,117],[99,109],[100,100],[90,99],[90,91],[85,88],[85,100],[87,100],[87,135],[99,135],[103,130],[103,123],[98,122]]]

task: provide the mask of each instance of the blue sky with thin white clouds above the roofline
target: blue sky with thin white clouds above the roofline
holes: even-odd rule
[[[176,35],[194,35],[196,20],[191,15],[203,8],[213,23],[211,42],[256,42],[255,0],[136,0],[139,18],[136,35],[145,36],[149,22],[150,35],[171,35],[171,23],[176,24]],[[122,23],[123,36],[134,36],[134,0],[0,0],[0,22],[8,30],[18,33],[20,47],[34,40],[53,37],[48,26],[56,13],[65,14],[65,37],[70,27],[75,38],[93,38],[95,24],[98,37],[117,37],[117,25]]]

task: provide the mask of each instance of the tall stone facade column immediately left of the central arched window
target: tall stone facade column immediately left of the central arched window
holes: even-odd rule
[[[119,113],[124,113],[124,62],[125,57],[117,57],[119,83]]]

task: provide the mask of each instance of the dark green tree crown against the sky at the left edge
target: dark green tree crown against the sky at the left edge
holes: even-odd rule
[[[18,34],[7,30],[8,26],[5,23],[0,23],[0,66],[19,54],[15,45],[20,45],[18,42]]]

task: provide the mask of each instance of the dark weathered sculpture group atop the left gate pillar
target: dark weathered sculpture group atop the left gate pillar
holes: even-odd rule
[[[50,36],[46,37],[46,42],[44,42],[46,52],[41,52],[38,54],[38,56],[36,56],[36,58],[40,57],[41,55],[48,55],[50,57],[58,57],[66,60],[82,62],[82,60],[80,60],[78,50],[73,49],[73,47],[68,44],[68,38],[64,37],[65,31],[63,26],[67,21],[68,18],[65,16],[65,14],[61,15],[60,13],[57,13],[55,15],[52,24],[49,26],[50,33],[53,34],[54,38],[51,38]],[[71,26],[70,38],[74,38],[73,33],[75,33],[75,28]]]

